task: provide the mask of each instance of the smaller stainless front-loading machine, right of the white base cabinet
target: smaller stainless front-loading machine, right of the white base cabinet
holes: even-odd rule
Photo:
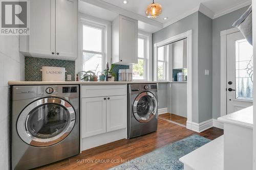
[[[157,130],[157,84],[128,85],[128,138]]]

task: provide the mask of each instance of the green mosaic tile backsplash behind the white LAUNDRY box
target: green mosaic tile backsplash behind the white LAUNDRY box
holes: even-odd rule
[[[72,81],[75,81],[75,61],[57,60],[47,58],[25,57],[25,81],[42,81],[42,66],[64,67],[67,75],[72,75]]]

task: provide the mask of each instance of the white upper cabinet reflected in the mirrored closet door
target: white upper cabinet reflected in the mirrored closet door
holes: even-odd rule
[[[173,43],[173,69],[187,68],[187,39]]]

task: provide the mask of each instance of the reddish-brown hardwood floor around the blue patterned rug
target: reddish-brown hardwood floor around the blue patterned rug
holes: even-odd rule
[[[122,160],[134,159],[163,147],[168,143],[181,140],[193,134],[198,134],[213,140],[223,135],[223,130],[210,128],[202,133],[196,133],[194,131],[187,130],[185,127],[170,123],[163,119],[158,119],[157,132],[133,139],[122,139],[104,144],[100,147],[83,151],[78,156],[38,169],[108,169],[121,164]],[[97,162],[98,160],[105,162]]]

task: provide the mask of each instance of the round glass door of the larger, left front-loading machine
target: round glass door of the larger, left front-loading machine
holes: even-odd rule
[[[72,105],[59,98],[39,99],[28,105],[17,120],[20,138],[34,147],[47,147],[65,139],[75,126]]]

